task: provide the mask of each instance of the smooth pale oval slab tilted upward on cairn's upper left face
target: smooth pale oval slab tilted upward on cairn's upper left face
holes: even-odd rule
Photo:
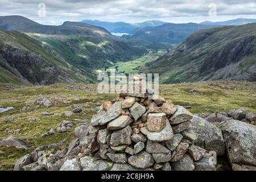
[[[117,119],[114,119],[108,123],[108,130],[122,129],[129,125],[131,122],[133,122],[133,119],[131,119],[129,116],[121,115]]]

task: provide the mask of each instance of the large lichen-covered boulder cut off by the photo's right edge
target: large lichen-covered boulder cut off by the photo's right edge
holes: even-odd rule
[[[237,120],[221,123],[230,163],[256,166],[256,126]]]

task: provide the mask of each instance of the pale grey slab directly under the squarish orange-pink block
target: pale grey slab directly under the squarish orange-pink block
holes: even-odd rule
[[[147,133],[147,138],[154,142],[163,142],[166,140],[170,140],[170,139],[172,139],[172,137],[174,137],[174,133],[172,133],[172,128],[171,128],[171,125],[170,125],[168,119],[166,120],[166,127],[164,127],[164,129],[162,131],[160,131],[160,132],[148,131],[146,133]]]

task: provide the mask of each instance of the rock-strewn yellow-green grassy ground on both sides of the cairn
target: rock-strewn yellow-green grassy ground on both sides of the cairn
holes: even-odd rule
[[[97,85],[86,84],[50,86],[0,84],[0,107],[14,107],[14,110],[0,113],[0,138],[26,138],[26,143],[33,145],[30,149],[0,147],[0,170],[11,170],[16,160],[39,146],[57,143],[65,138],[70,142],[75,127],[66,133],[57,132],[44,138],[40,135],[52,128],[56,129],[64,120],[79,125],[81,119],[90,119],[97,112],[95,107],[117,96],[117,94],[98,94],[96,88]],[[39,94],[47,95],[55,105],[47,108],[34,104],[30,109],[20,112],[29,101],[38,98]],[[160,94],[166,99],[173,100],[174,104],[191,106],[189,110],[191,113],[210,113],[240,108],[256,113],[255,82],[209,81],[160,85]],[[64,112],[72,110],[75,104],[84,105],[84,113],[69,117],[65,115]],[[41,113],[44,111],[55,114],[42,116]],[[40,121],[30,121],[30,118],[39,118]],[[14,132],[17,129],[21,131]]]

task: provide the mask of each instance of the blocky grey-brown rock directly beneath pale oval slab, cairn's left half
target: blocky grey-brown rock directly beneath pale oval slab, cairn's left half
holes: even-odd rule
[[[110,138],[110,145],[111,146],[120,146],[123,144],[130,145],[131,144],[131,134],[133,130],[128,125],[121,130],[115,130]]]

